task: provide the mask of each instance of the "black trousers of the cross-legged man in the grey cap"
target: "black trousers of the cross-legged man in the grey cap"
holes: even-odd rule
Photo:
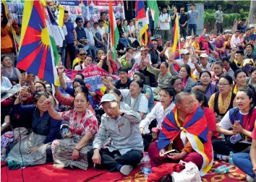
[[[143,153],[137,149],[131,149],[124,155],[121,155],[118,150],[109,152],[108,149],[101,149],[101,165],[97,168],[105,168],[109,171],[116,170],[117,165],[132,165],[135,167],[143,157]],[[89,165],[93,165],[93,149],[90,150],[88,155]]]

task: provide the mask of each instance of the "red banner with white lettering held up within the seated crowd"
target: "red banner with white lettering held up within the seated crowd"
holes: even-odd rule
[[[106,77],[106,76],[110,75],[111,77],[113,77],[113,79],[119,79],[118,76],[116,76],[114,74],[109,74],[107,71],[105,71],[104,69],[102,69],[101,67],[99,67],[95,64],[91,64],[90,66],[86,67],[85,69],[82,69],[82,71],[65,69],[64,72],[65,72],[66,76],[71,81],[74,80],[75,75],[78,73],[83,74],[85,76],[85,78],[97,77],[97,76]]]

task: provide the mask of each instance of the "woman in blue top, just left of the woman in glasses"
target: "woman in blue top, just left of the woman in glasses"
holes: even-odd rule
[[[195,90],[200,90],[209,100],[211,95],[213,95],[215,92],[218,92],[218,87],[210,83],[212,76],[207,70],[200,72],[199,78],[200,83],[195,83],[195,86],[192,87],[192,92]]]

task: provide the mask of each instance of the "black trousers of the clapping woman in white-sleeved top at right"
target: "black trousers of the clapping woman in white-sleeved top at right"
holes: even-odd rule
[[[214,139],[212,144],[213,150],[220,155],[229,155],[231,151],[234,153],[242,152],[250,146],[250,144],[244,143],[231,144],[231,142],[221,141],[218,139]]]

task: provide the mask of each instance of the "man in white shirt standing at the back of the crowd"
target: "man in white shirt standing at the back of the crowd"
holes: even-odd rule
[[[167,13],[167,8],[163,7],[163,13],[159,16],[158,20],[160,21],[160,28],[161,36],[164,41],[170,40],[169,38],[169,32],[170,32],[170,22],[171,22],[171,16]]]

